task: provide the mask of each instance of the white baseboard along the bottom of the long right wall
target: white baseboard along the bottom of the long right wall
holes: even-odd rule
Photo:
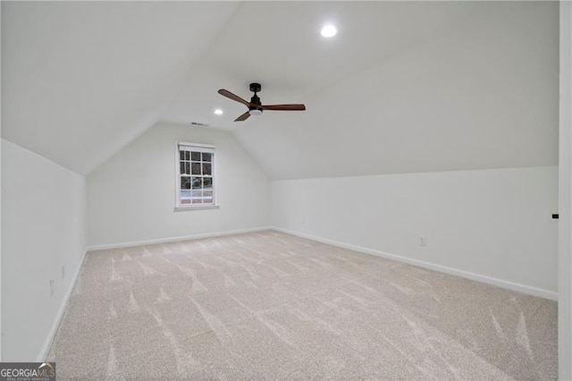
[[[308,240],[328,243],[330,245],[338,246],[338,247],[341,247],[344,249],[355,250],[355,251],[363,252],[366,254],[375,255],[378,257],[393,259],[393,260],[397,260],[400,262],[408,263],[410,265],[414,265],[414,266],[418,266],[418,267],[425,267],[425,268],[429,268],[431,270],[440,271],[442,273],[446,273],[446,274],[450,274],[450,275],[456,275],[456,276],[460,276],[463,278],[471,279],[471,280],[481,282],[484,284],[492,284],[492,285],[499,286],[501,288],[506,288],[506,289],[509,289],[512,291],[523,292],[523,293],[533,295],[533,296],[539,296],[539,297],[544,298],[544,299],[550,299],[551,301],[558,301],[558,292],[543,290],[540,288],[528,286],[526,284],[517,284],[514,282],[510,282],[510,281],[505,281],[502,279],[493,278],[491,276],[470,273],[468,271],[458,270],[457,268],[446,267],[446,266],[442,266],[442,265],[435,265],[435,264],[430,263],[430,262],[424,262],[424,261],[418,260],[418,259],[402,257],[400,255],[390,254],[390,253],[386,253],[386,252],[383,252],[380,250],[368,249],[368,248],[364,248],[361,246],[356,246],[356,245],[352,245],[349,243],[344,243],[341,241],[333,241],[333,240],[329,240],[326,238],[315,237],[314,235],[294,232],[294,231],[291,231],[288,229],[282,229],[281,227],[273,227],[272,229],[275,231],[278,231],[278,232],[288,233],[288,234],[296,235],[296,236],[299,236],[302,238],[307,238]]]

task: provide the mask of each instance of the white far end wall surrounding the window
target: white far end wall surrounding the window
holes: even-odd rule
[[[173,211],[176,141],[216,146],[220,208]],[[88,245],[265,227],[269,196],[265,174],[230,132],[159,123],[88,175]]]

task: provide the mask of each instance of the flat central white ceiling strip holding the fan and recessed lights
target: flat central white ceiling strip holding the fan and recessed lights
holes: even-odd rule
[[[473,8],[431,2],[242,3],[162,119],[234,130],[232,121],[246,108],[217,89],[248,100],[248,84],[257,81],[263,103],[299,103],[462,22]],[[321,37],[325,23],[338,25],[335,38]],[[215,116],[214,106],[225,115]]]

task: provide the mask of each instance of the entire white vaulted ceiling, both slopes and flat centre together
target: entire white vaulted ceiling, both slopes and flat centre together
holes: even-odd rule
[[[2,134],[80,174],[160,121],[273,179],[556,165],[558,48],[557,2],[2,2]],[[307,111],[233,123],[251,81]]]

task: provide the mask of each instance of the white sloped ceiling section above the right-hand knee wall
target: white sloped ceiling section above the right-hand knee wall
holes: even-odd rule
[[[472,5],[430,40],[272,99],[307,112],[251,117],[238,138],[274,179],[557,165],[558,4]]]

